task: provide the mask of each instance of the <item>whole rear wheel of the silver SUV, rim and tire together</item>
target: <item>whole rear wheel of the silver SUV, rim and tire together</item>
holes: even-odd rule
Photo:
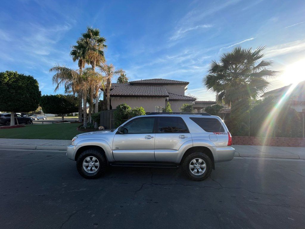
[[[191,180],[205,180],[212,173],[212,161],[206,154],[194,152],[185,158],[183,169]]]

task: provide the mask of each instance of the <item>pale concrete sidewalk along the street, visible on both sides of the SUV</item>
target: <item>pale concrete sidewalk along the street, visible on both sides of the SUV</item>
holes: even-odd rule
[[[0,148],[66,150],[71,140],[0,138]],[[305,159],[305,147],[233,145],[235,157]]]

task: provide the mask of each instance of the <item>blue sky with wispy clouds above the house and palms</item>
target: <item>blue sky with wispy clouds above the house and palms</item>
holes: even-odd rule
[[[130,80],[190,82],[186,93],[215,100],[201,85],[211,60],[236,45],[266,45],[265,59],[281,71],[271,89],[305,79],[305,1],[3,1],[0,71],[33,75],[42,94],[54,94],[55,64],[71,60],[87,26],[107,39],[107,63]],[[59,93],[62,93],[60,90]]]

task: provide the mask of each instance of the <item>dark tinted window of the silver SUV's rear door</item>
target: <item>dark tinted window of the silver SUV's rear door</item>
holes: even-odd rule
[[[188,133],[188,129],[181,118],[160,117],[157,128],[158,133]]]

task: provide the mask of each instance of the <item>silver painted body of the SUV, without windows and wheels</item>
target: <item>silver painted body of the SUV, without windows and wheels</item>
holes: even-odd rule
[[[227,146],[228,129],[218,116],[202,116],[196,115],[196,113],[194,115],[145,115],[131,118],[121,126],[124,126],[124,124],[132,119],[149,116],[181,117],[190,133],[119,134],[117,133],[118,128],[113,132],[98,131],[83,133],[77,135],[77,139],[67,147],[67,157],[75,160],[76,152],[84,146],[101,147],[105,151],[109,162],[180,163],[185,151],[191,147],[209,148],[215,163],[230,161],[234,157],[235,149]],[[190,117],[217,118],[224,127],[225,132],[205,132]],[[151,136],[151,138],[146,136]],[[215,139],[217,140],[215,141]]]

